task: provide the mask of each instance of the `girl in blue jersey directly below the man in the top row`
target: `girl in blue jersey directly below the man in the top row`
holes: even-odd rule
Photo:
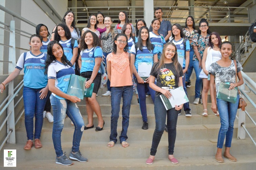
[[[163,38],[163,35],[158,33],[160,24],[161,24],[160,20],[154,19],[151,22],[152,32],[149,32],[150,41],[152,44],[155,45],[155,47],[157,49],[158,60],[160,60],[160,57],[161,57],[161,54],[163,51],[163,46],[166,44],[166,42]]]

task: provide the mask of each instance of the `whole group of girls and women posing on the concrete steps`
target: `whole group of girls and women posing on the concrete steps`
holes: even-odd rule
[[[212,110],[217,114],[217,108],[219,108],[221,118],[221,128],[215,155],[216,161],[224,162],[222,158],[222,147],[225,137],[226,148],[224,157],[227,157],[231,161],[236,161],[235,157],[233,157],[229,151],[239,97],[237,98],[236,103],[226,102],[221,99],[216,99],[214,90],[216,89],[216,92],[218,91],[220,82],[230,82],[230,90],[243,83],[240,72],[242,67],[240,63],[233,62],[229,59],[232,52],[232,44],[228,41],[221,44],[220,36],[215,32],[208,34],[208,22],[203,19],[199,23],[200,30],[196,33],[194,27],[195,23],[192,16],[188,16],[186,20],[187,27],[184,29],[185,37],[188,38],[187,41],[182,40],[184,34],[180,25],[174,24],[172,27],[174,43],[168,42],[165,44],[164,37],[157,32],[160,27],[160,21],[158,19],[152,21],[152,32],[149,32],[149,29],[146,27],[143,20],[137,21],[135,28],[137,35],[136,39],[133,38],[135,33],[135,31],[133,31],[133,26],[126,21],[128,18],[125,11],[122,11],[119,14],[120,23],[116,26],[117,29],[111,28],[112,21],[109,16],[104,18],[106,30],[102,32],[100,35],[101,38],[99,38],[97,31],[94,30],[97,28],[95,27],[97,19],[99,19],[99,25],[102,25],[103,14],[99,14],[102,15],[102,17],[99,16],[98,18],[98,14],[89,17],[88,22],[90,21],[91,25],[87,27],[88,29],[83,30],[84,32],[80,39],[80,31],[75,27],[74,13],[72,11],[67,11],[63,17],[62,24],[58,24],[54,28],[52,34],[54,40],[48,43],[47,56],[40,51],[40,48],[43,45],[42,37],[45,37],[45,33],[32,35],[29,42],[31,51],[23,53],[20,56],[14,72],[0,84],[2,93],[6,84],[13,80],[24,68],[23,98],[25,127],[28,138],[24,149],[31,149],[33,146],[33,139],[35,139],[35,148],[42,147],[40,135],[43,125],[43,111],[47,98],[50,95],[49,91],[51,91],[50,101],[53,108],[54,120],[52,138],[56,152],[56,163],[61,165],[72,165],[73,162],[70,159],[80,162],[87,161],[81,154],[79,145],[83,131],[94,127],[93,112],[98,116],[98,126],[95,130],[101,131],[105,124],[102,119],[100,106],[96,100],[96,94],[99,90],[101,79],[99,67],[101,60],[105,60],[108,78],[110,80],[109,87],[111,87],[111,126],[110,140],[107,146],[113,147],[117,142],[117,122],[119,118],[121,97],[123,97],[123,120],[122,132],[119,139],[123,147],[129,146],[129,143],[126,140],[128,138],[127,130],[129,126],[129,113],[133,96],[132,78],[136,77],[135,81],[137,84],[140,110],[144,122],[143,129],[148,128],[145,87],[148,87],[152,100],[155,103],[154,111],[156,126],[153,134],[150,156],[146,161],[146,164],[152,164],[155,159],[156,150],[165,128],[166,117],[168,129],[168,158],[172,163],[177,164],[178,160],[173,154],[176,139],[177,118],[179,110],[182,109],[183,104],[179,106],[176,105],[174,108],[166,110],[160,99],[160,95],[163,94],[167,98],[172,96],[170,91],[166,90],[164,87],[170,89],[178,87],[184,88],[184,74],[187,69],[191,69],[191,67],[188,66],[188,56],[190,58],[192,57],[190,53],[192,50],[189,49],[194,49],[192,63],[196,70],[197,78],[203,78],[203,104],[207,103],[207,92],[210,86],[211,100],[213,101]],[[41,28],[43,27],[46,26],[41,25]],[[104,28],[101,27],[101,29]],[[208,37],[210,37],[210,39],[208,39]],[[102,40],[102,43],[100,40]],[[182,41],[183,44],[179,44],[179,41]],[[111,44],[113,44],[112,48]],[[207,46],[209,47],[206,48]],[[88,115],[88,124],[86,126],[84,125],[83,118],[76,104],[77,102],[80,102],[81,99],[66,94],[69,77],[71,74],[75,74],[74,68],[76,68],[78,47],[81,49],[81,52],[77,65],[80,70],[80,75],[87,78],[85,87],[88,88],[94,83],[92,97],[85,99]],[[184,50],[183,55],[180,55],[180,50]],[[86,62],[88,60],[90,62]],[[141,69],[139,65],[143,63],[147,63],[150,66],[150,76],[145,79],[139,75],[139,69]],[[201,67],[203,68],[203,72],[201,72]],[[235,70],[236,68],[237,70]],[[239,78],[238,82],[235,81],[236,72]],[[37,76],[33,76],[35,73]],[[209,77],[208,74],[210,75],[210,81],[207,80]],[[199,83],[200,81],[201,80],[197,79],[196,83]],[[200,85],[198,84],[196,86],[199,87]],[[198,90],[200,93],[201,86],[199,89],[196,88],[197,93]],[[198,94],[196,94],[196,98],[199,97],[197,95]],[[207,115],[206,111],[204,105],[204,116]],[[63,153],[60,140],[66,114],[75,127],[73,146],[69,155],[70,159],[67,158],[66,152]],[[35,133],[33,134],[34,115]]]

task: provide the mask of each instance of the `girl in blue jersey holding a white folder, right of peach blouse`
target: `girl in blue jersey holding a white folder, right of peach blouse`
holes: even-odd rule
[[[150,43],[149,29],[147,27],[141,27],[139,29],[137,44],[137,49],[135,49],[135,44],[133,44],[131,47],[131,62],[134,62],[135,66],[133,67],[133,74],[136,77],[139,106],[143,119],[142,129],[148,129],[145,88],[146,86],[148,87],[153,102],[155,100],[155,91],[149,87],[149,77],[144,77],[143,79],[142,77],[140,77],[140,75],[142,75],[145,71],[150,72],[153,66],[153,61],[157,61],[157,51],[154,45]],[[138,74],[138,72],[140,73],[140,75]],[[147,76],[149,76],[149,74]]]

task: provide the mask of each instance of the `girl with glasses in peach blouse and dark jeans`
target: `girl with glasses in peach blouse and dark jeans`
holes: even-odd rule
[[[120,143],[128,147],[127,130],[129,126],[129,114],[133,94],[132,69],[134,60],[129,60],[128,38],[125,34],[118,34],[114,39],[113,52],[107,56],[107,72],[111,87],[111,128],[108,147],[117,143],[117,123],[119,119],[120,102],[123,97],[122,106],[122,131]]]

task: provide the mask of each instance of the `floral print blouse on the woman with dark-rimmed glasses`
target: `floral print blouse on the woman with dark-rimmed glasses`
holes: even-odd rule
[[[208,47],[209,36],[209,34],[207,34],[206,37],[201,35],[200,38],[198,39],[198,33],[196,33],[192,38],[191,45],[198,46],[198,52],[200,54],[201,59],[203,58],[205,48]],[[198,61],[195,53],[193,55],[193,60]]]

